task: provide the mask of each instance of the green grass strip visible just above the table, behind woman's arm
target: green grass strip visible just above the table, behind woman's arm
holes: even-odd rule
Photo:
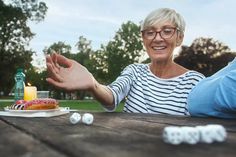
[[[0,109],[2,110],[5,106],[9,106],[13,103],[13,100],[3,101],[0,99]],[[70,107],[70,109],[85,110],[85,111],[104,111],[103,107],[99,102],[95,100],[59,100],[61,107]],[[116,109],[116,112],[123,110],[124,103],[121,103]]]

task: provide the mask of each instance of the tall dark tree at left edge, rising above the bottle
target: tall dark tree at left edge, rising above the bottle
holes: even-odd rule
[[[43,20],[46,11],[44,2],[0,0],[0,85],[4,95],[13,87],[16,69],[31,67],[34,52],[27,49],[27,46],[34,34],[27,22]]]

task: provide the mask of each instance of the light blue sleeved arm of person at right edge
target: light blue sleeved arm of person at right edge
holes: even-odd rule
[[[201,80],[187,101],[191,116],[236,118],[236,60]]]

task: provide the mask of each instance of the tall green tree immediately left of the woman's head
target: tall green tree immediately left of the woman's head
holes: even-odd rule
[[[139,62],[144,52],[140,27],[131,21],[122,24],[113,40],[101,48],[92,58],[103,82],[110,83],[127,65]]]

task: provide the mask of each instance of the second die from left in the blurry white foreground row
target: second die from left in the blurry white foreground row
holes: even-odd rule
[[[183,142],[188,144],[196,144],[200,140],[199,131],[195,127],[181,127],[183,132]]]

